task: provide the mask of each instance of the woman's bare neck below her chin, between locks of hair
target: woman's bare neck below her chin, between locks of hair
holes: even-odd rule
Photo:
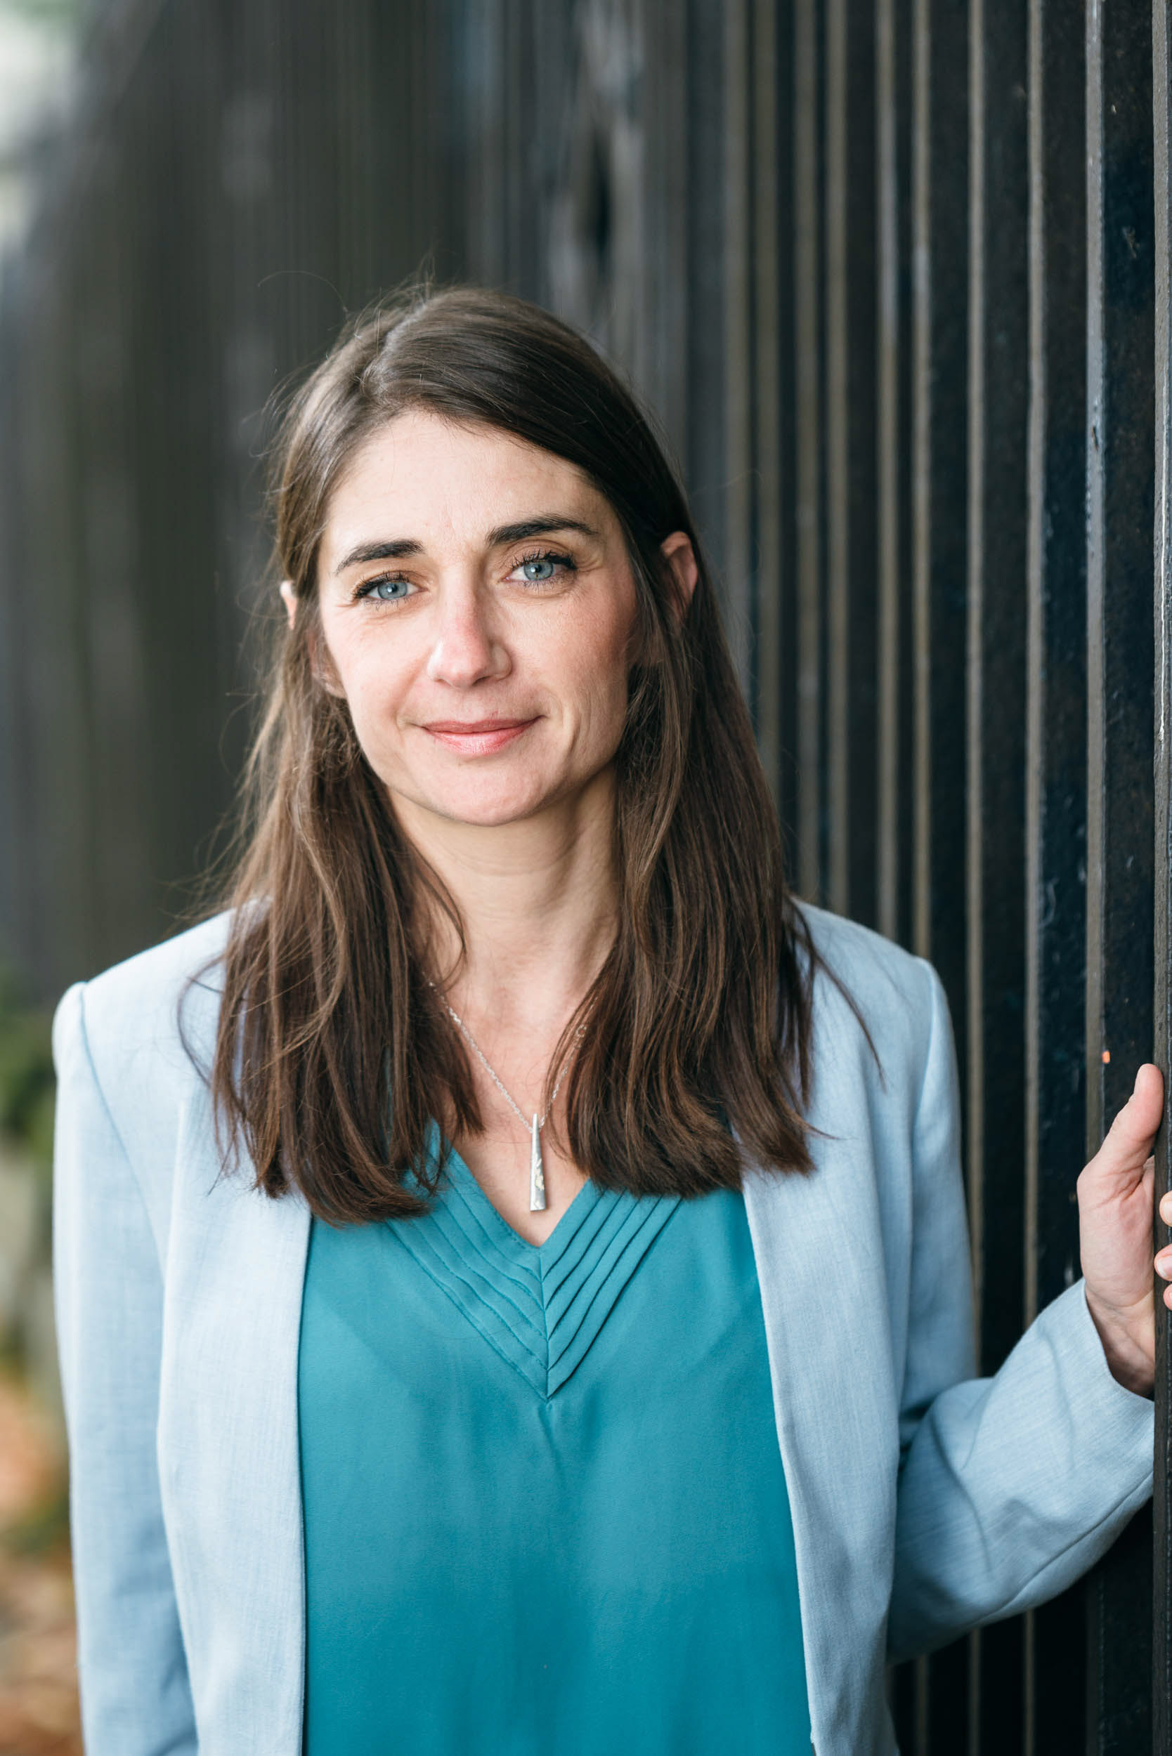
[[[611,773],[515,824],[459,824],[402,799],[395,813],[464,922],[452,1004],[504,1029],[559,1031],[615,936]],[[439,980],[453,969],[459,941],[441,911],[430,911],[425,932]]]

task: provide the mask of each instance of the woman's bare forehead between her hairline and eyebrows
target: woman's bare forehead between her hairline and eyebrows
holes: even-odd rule
[[[408,409],[364,439],[346,464],[330,495],[323,546],[445,532],[473,537],[553,509],[589,511],[601,527],[615,523],[604,495],[566,458],[499,427],[464,427]]]

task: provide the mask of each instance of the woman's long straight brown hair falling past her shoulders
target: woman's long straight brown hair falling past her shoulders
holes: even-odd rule
[[[311,657],[330,493],[355,448],[409,407],[582,469],[615,509],[636,581],[640,662],[615,759],[619,929],[550,1062],[585,1024],[569,1154],[596,1184],[641,1194],[738,1187],[742,1154],[808,1169],[817,959],[684,492],[631,392],[575,330],[476,288],[415,288],[364,313],[279,428],[276,562],[299,613],[281,632],[227,897],[211,1064],[225,1155],[244,1147],[271,1196],[293,1184],[318,1217],[364,1222],[427,1205],[404,1175],[434,1189],[432,1119],[445,1141],[481,1126],[464,1043],[429,987],[420,887],[457,932],[459,911]],[[675,530],[699,558],[682,616],[659,548]]]

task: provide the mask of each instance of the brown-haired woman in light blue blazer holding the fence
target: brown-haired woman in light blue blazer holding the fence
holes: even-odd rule
[[[887,1752],[1151,1491],[1160,1075],[973,1380],[940,983],[789,896],[622,385],[380,309],[276,525],[230,906],[56,1022],[88,1749]]]

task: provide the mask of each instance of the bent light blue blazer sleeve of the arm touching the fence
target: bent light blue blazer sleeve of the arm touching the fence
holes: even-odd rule
[[[1147,1500],[1154,1456],[1153,1403],[1112,1378],[1081,1280],[1040,1312],[995,1377],[975,1377],[956,1057],[940,978],[930,976],[893,1659],[1063,1591]]]

